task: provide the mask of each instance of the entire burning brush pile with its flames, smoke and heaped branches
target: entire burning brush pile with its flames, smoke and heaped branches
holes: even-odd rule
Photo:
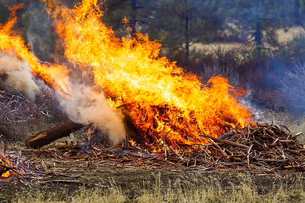
[[[102,22],[97,0],[83,0],[72,9],[55,0],[43,2],[59,36],[60,63],[42,62],[30,51],[14,30],[18,19],[11,9],[11,19],[0,29],[0,60],[11,57],[22,65],[0,71],[9,77],[27,70],[32,87],[25,88],[27,95],[52,92],[71,121],[90,123],[102,132],[87,140],[93,147],[85,151],[95,162],[90,156],[82,162],[99,165],[132,153],[149,159],[145,163],[162,160],[206,170],[305,169],[305,151],[296,141],[300,133],[272,123],[255,124],[252,109],[241,102],[249,91],[233,88],[222,76],[203,83],[159,57],[160,43],[146,35],[118,38]],[[113,147],[102,148],[106,139]]]

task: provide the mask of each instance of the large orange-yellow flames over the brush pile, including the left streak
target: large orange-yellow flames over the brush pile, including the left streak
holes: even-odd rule
[[[144,34],[119,39],[102,22],[98,0],[83,0],[73,9],[54,0],[43,1],[55,22],[66,60],[92,80],[92,89],[105,92],[114,109],[125,105],[124,114],[146,143],[162,144],[164,139],[176,148],[204,144],[209,140],[199,134],[218,137],[239,122],[249,123],[251,109],[237,100],[246,91],[234,89],[222,76],[212,77],[207,82],[211,86],[203,84],[195,74],[159,57],[161,44]],[[29,62],[34,74],[56,91],[73,94],[71,70],[39,63],[24,40],[11,31],[15,22],[16,17],[0,30],[5,42],[0,48]],[[135,136],[131,143],[134,140]]]

